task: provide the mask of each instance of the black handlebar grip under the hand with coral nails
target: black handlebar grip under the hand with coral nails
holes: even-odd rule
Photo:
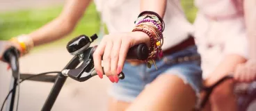
[[[97,49],[97,46],[93,47],[93,53]],[[147,44],[142,43],[136,46],[133,46],[129,49],[127,53],[127,60],[147,60],[149,50]]]

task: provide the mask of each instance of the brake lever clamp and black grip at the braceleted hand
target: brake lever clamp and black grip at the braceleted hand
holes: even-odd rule
[[[80,53],[79,55],[83,54],[83,63],[77,67],[77,69],[64,69],[62,71],[62,74],[69,76],[70,78],[73,78],[74,80],[77,80],[79,82],[83,82],[88,80],[89,78],[97,75],[95,72],[95,69],[93,67],[93,53],[97,49],[97,46],[89,47],[83,53]],[[78,56],[79,56],[78,55]],[[131,47],[127,53],[127,59],[129,60],[146,60],[148,57],[148,48],[146,44],[138,44],[136,46]],[[81,56],[79,57],[81,58]],[[124,79],[125,74],[121,72],[118,74],[118,78]]]

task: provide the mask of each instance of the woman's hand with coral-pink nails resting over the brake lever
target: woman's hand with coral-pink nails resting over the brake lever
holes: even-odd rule
[[[105,74],[112,83],[118,83],[118,74],[124,67],[129,48],[141,43],[150,46],[150,37],[143,32],[105,35],[97,46],[95,53],[93,53],[95,70],[99,78],[103,78],[103,74]],[[102,69],[102,67],[104,68]]]

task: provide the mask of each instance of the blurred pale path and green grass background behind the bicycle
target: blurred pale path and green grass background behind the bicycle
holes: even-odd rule
[[[65,1],[63,0],[0,0],[0,40],[9,40],[17,35],[31,33],[57,17]],[[189,22],[195,18],[196,8],[193,1],[182,0]],[[77,35],[99,33],[100,18],[92,3],[75,28],[63,40],[38,46],[29,55],[20,59],[20,71],[40,73],[61,71],[72,58],[65,44]],[[60,26],[61,28],[61,26]],[[97,40],[99,41],[99,40]],[[8,94],[10,71],[0,62],[0,105]],[[52,83],[26,81],[20,89],[19,110],[40,110],[47,99]],[[104,78],[92,78],[85,83],[67,79],[53,110],[106,110],[107,88],[110,82]]]

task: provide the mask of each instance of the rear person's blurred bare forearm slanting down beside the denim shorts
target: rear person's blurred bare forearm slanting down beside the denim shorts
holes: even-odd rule
[[[220,78],[223,78],[223,76],[226,76],[227,74],[234,72],[234,69],[237,67],[237,65],[243,62],[246,62],[246,58],[243,58],[242,56],[238,56],[236,54],[230,54],[225,56],[223,61],[205,80],[205,85],[213,85]]]

